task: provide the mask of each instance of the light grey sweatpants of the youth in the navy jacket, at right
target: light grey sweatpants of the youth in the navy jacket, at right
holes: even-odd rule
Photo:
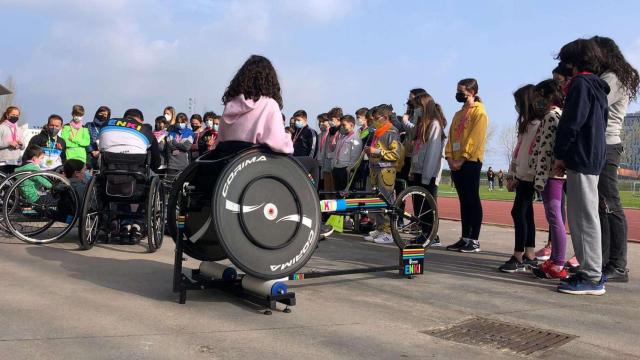
[[[580,272],[592,281],[602,276],[602,243],[598,215],[598,175],[567,170],[567,218]]]

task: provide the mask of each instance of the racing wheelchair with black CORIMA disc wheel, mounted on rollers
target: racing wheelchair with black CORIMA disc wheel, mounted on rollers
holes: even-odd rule
[[[419,274],[422,266],[415,265],[422,264],[429,242],[412,243],[403,230],[426,230],[429,240],[437,232],[435,202],[422,188],[410,187],[394,201],[376,196],[321,202],[308,170],[295,158],[242,142],[222,142],[190,164],[174,182],[168,208],[168,231],[176,243],[173,286],[180,293],[180,303],[186,301],[187,290],[235,292],[235,285],[245,288],[248,280],[249,292],[255,292],[252,283],[261,284],[260,294],[266,295],[273,309],[276,301],[289,306],[295,303],[293,294],[282,285],[287,279],[389,270],[399,270],[403,276]],[[298,272],[317,247],[321,212],[388,214],[401,250],[400,265]],[[182,271],[183,254],[202,261],[201,268],[215,265],[214,274],[193,269],[191,277],[187,276]],[[245,275],[236,276],[235,269],[214,263],[224,259]],[[245,291],[235,293],[247,296]]]

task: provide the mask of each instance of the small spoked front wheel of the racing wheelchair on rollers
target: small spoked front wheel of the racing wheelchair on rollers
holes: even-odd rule
[[[391,216],[391,235],[396,245],[428,247],[438,234],[438,206],[433,196],[420,186],[400,193]]]

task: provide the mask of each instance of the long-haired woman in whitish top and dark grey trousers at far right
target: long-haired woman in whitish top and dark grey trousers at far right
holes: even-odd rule
[[[602,266],[608,281],[627,282],[627,219],[618,190],[618,167],[624,150],[620,132],[629,102],[637,98],[640,76],[625,60],[615,41],[601,36],[595,36],[592,40],[604,55],[600,78],[611,88],[607,95],[606,161],[598,178]]]

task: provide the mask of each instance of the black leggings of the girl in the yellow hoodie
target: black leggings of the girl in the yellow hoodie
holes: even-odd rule
[[[479,161],[465,161],[460,170],[451,172],[451,179],[453,179],[460,200],[462,237],[471,240],[478,240],[482,226],[481,168],[482,163]]]

